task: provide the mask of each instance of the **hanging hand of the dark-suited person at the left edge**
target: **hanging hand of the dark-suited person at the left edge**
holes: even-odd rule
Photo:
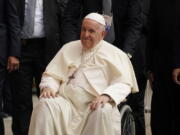
[[[19,59],[14,56],[8,57],[7,70],[12,72],[19,69]]]

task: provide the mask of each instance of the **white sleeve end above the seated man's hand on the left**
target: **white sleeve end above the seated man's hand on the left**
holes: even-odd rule
[[[60,81],[51,76],[43,75],[41,78],[41,83],[39,84],[39,87],[41,91],[44,88],[50,88],[53,91],[57,92],[60,87]]]

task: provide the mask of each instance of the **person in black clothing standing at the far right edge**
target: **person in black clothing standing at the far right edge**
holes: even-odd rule
[[[151,0],[148,69],[152,135],[179,134],[180,1]],[[173,72],[174,71],[174,72]]]

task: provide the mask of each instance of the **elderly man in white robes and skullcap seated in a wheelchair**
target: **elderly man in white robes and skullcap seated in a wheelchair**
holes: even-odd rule
[[[65,44],[49,63],[29,135],[120,135],[117,105],[138,87],[127,55],[104,35],[103,16],[88,14],[80,40]]]

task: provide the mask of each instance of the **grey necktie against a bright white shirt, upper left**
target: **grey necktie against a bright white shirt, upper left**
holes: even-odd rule
[[[36,10],[36,0],[28,0],[23,26],[25,37],[31,37],[34,32],[34,17]]]

